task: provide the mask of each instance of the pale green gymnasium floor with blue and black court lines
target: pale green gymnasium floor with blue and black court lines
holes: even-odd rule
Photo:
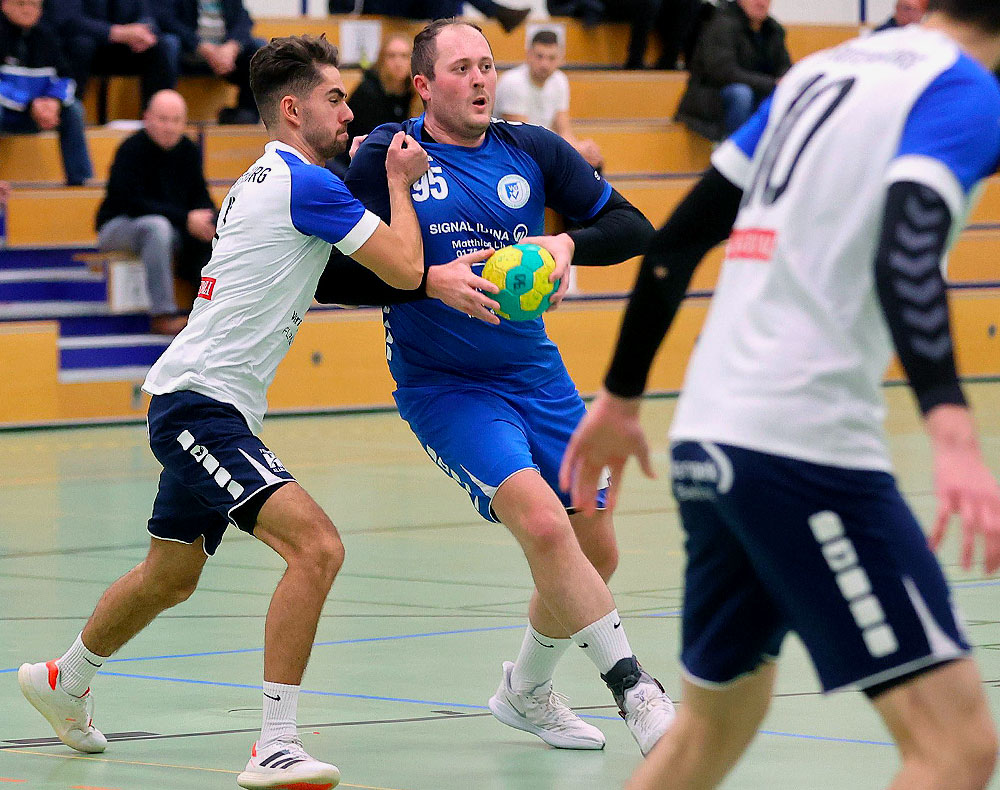
[[[1000,384],[970,385],[1000,472]],[[888,390],[901,485],[927,523],[927,442],[909,394]],[[672,400],[645,408],[659,481],[629,470],[612,582],[631,643],[678,688],[681,543],[666,480]],[[520,645],[528,571],[513,540],[478,520],[395,415],[272,419],[263,438],[331,513],[347,564],[320,623],[299,720],[307,748],[345,788],[620,788],[639,760],[610,695],[571,652],[556,675],[607,734],[603,752],[560,752],[489,716],[500,662]],[[235,787],[260,716],[261,639],[279,559],[230,531],[198,593],[128,644],[93,684],[103,755],[79,755],[23,701],[15,672],[59,655],[97,596],[141,560],[158,466],[142,426],[0,433],[0,784],[26,790]],[[943,559],[1000,709],[1000,579]],[[777,698],[727,788],[875,790],[895,755],[856,693],[822,699],[786,643]],[[119,736],[113,735],[119,733]],[[37,739],[42,739],[38,742]],[[993,787],[1000,788],[1000,782]]]

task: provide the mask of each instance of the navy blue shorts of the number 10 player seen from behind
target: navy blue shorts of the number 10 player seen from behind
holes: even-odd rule
[[[681,660],[730,683],[794,631],[824,691],[870,689],[969,644],[920,525],[885,472],[709,442],[673,447],[687,535]]]

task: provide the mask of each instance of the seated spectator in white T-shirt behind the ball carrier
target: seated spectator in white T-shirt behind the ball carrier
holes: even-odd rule
[[[494,113],[507,121],[544,126],[572,145],[595,170],[604,167],[601,149],[593,140],[573,134],[569,116],[569,80],[560,70],[563,53],[551,30],[539,30],[531,39],[525,62],[505,72],[497,82]]]

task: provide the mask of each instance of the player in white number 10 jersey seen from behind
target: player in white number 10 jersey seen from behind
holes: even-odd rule
[[[677,723],[628,790],[711,788],[763,721],[794,631],[824,691],[891,732],[895,790],[981,790],[997,735],[960,616],[903,501],[883,429],[899,355],[930,436],[936,546],[1000,567],[1000,489],[958,380],[941,262],[1000,164],[1000,3],[931,0],[922,25],[817,53],[712,158],[640,270],[605,391],[561,484],[649,474],[646,377],[691,274],[729,238],[671,428],[686,532]],[[613,499],[613,497],[612,497]],[[870,786],[865,776],[860,780]]]

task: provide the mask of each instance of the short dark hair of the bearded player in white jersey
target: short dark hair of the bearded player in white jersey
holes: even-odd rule
[[[320,81],[317,66],[339,66],[337,48],[319,36],[272,38],[250,59],[250,89],[265,126],[278,121],[278,102],[289,93],[303,95]]]

